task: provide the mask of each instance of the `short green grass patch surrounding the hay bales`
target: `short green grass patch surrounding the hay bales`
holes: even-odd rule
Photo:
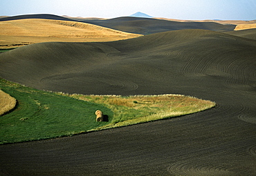
[[[100,104],[36,90],[0,79],[0,88],[17,99],[12,112],[0,116],[0,144],[84,133],[111,123],[113,112]],[[95,110],[109,121],[95,121]]]

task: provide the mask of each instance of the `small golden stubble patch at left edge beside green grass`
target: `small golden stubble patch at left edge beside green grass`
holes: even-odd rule
[[[16,99],[0,90],[0,115],[9,112],[16,106]]]

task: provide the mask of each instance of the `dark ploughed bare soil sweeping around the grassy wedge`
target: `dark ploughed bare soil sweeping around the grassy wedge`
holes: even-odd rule
[[[256,175],[256,41],[177,30],[107,43],[37,43],[0,77],[84,94],[176,93],[217,107],[75,137],[0,146],[1,175]]]

